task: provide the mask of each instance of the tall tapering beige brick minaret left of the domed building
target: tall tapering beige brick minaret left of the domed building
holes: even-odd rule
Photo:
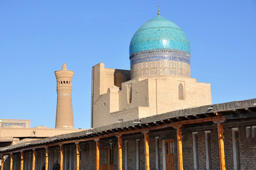
[[[74,72],[62,65],[61,71],[55,71],[57,79],[57,110],[55,128],[74,128],[72,108],[72,78]]]

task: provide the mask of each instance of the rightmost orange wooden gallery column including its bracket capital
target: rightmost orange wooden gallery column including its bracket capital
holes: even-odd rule
[[[226,170],[225,153],[224,153],[224,138],[223,138],[223,122],[226,117],[220,117],[213,122],[217,124],[218,139],[219,139],[219,166],[221,170]]]

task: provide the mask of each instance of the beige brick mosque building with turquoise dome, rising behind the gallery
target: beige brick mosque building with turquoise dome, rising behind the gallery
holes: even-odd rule
[[[212,104],[210,84],[190,78],[190,44],[174,22],[157,15],[143,24],[129,58],[131,71],[93,66],[93,128]]]

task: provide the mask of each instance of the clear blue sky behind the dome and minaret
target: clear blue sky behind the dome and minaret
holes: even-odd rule
[[[158,1],[0,0],[0,118],[55,127],[54,71],[75,71],[75,128],[90,127],[91,67],[129,69],[129,43]],[[256,1],[160,1],[185,31],[191,77],[211,83],[212,102],[256,97]]]

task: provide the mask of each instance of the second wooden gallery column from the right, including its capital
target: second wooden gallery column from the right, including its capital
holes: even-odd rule
[[[179,170],[183,170],[183,153],[182,153],[182,133],[181,133],[182,124],[176,124],[173,128],[176,128],[177,131],[177,144],[178,144],[178,162]]]

